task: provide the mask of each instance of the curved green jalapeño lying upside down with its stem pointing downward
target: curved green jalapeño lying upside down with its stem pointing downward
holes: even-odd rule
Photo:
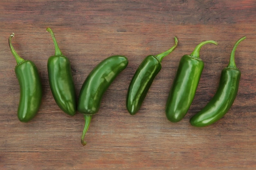
[[[85,133],[90,126],[92,115],[99,110],[103,94],[127,65],[128,60],[126,57],[114,55],[100,62],[85,79],[79,94],[77,107],[85,119],[83,135],[81,136],[83,145],[86,145],[84,141]]]

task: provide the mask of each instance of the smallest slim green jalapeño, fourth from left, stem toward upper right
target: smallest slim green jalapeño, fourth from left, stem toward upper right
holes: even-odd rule
[[[162,68],[162,59],[177,47],[177,37],[174,37],[174,40],[175,45],[171,49],[158,55],[148,55],[137,68],[126,97],[126,108],[131,115],[139,111],[155,76]]]

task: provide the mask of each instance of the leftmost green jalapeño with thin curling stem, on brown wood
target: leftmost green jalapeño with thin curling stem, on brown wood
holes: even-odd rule
[[[11,44],[12,37],[14,37],[14,33],[9,37],[9,46],[17,62],[15,73],[20,85],[20,102],[17,115],[20,121],[28,122],[35,117],[39,110],[42,100],[42,84],[34,62],[24,60],[14,50]]]

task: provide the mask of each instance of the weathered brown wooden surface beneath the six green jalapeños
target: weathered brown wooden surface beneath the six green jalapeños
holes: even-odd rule
[[[1,0],[0,1],[0,169],[1,170],[255,170],[256,169],[256,1],[255,0]],[[76,93],[92,68],[111,55],[129,64],[103,96],[82,146],[83,115],[70,117],[55,104],[47,59],[54,45],[51,27],[72,65]],[[16,116],[19,85],[8,46],[32,60],[41,75],[43,101],[36,117]],[[194,128],[189,119],[213,97],[220,72],[236,40],[242,72],[236,100],[216,124]],[[179,45],[135,116],[126,110],[130,80],[147,55]],[[189,112],[178,123],[164,108],[179,60],[204,40],[205,63]]]

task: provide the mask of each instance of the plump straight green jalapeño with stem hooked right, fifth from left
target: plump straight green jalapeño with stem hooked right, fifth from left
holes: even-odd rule
[[[191,55],[183,55],[166,102],[166,117],[171,122],[178,122],[186,115],[198,87],[204,68],[200,59],[200,49],[204,44],[218,44],[209,40],[198,44]]]

